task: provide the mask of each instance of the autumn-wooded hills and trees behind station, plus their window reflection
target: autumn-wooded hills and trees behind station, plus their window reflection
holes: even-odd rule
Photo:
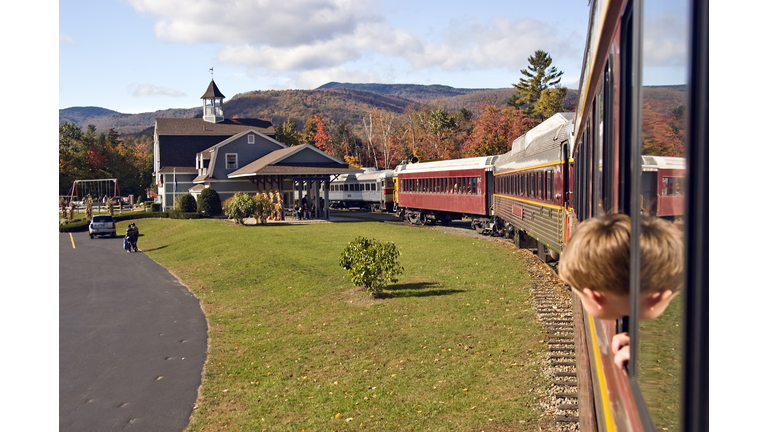
[[[682,156],[685,87],[646,87],[644,95],[644,154]],[[329,83],[315,90],[241,93],[229,98],[223,109],[230,118],[271,120],[276,138],[285,144],[310,143],[356,165],[393,168],[414,155],[448,159],[505,153],[512,141],[545,118],[573,111],[576,105],[573,89],[545,89],[535,103],[520,104],[516,96],[513,88]],[[517,101],[516,106],[510,106],[511,101]],[[108,169],[101,162],[112,154],[125,153],[138,143],[148,145],[155,118],[201,116],[202,105],[133,115],[96,107],[60,110],[60,124],[70,135],[87,129],[80,132],[86,138],[68,140],[60,156],[82,161],[82,171],[95,175]],[[114,148],[101,144],[104,136]],[[116,136],[121,137],[120,145],[115,144]],[[145,157],[146,147],[134,159],[143,164]],[[62,179],[69,181],[72,175],[64,173]]]

